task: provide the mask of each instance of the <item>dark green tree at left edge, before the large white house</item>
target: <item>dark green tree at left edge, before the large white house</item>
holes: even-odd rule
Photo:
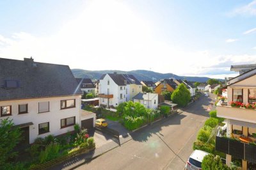
[[[1,120],[0,123],[0,169],[5,169],[6,166],[10,166],[9,160],[13,158],[17,153],[13,151],[13,148],[22,139],[21,131],[18,127],[13,126],[14,123],[9,118]]]

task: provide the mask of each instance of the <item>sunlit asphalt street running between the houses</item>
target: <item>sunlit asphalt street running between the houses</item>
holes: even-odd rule
[[[184,169],[211,102],[202,97],[184,112],[139,130],[131,141],[77,169]]]

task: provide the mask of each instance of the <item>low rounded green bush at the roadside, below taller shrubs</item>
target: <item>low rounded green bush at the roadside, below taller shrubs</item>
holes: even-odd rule
[[[125,116],[124,118],[124,127],[128,130],[134,130],[136,128],[141,127],[143,125],[145,118],[143,116],[139,116],[133,118],[132,116]]]

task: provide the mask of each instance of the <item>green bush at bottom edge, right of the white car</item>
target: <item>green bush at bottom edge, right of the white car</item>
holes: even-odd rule
[[[230,168],[222,163],[219,155],[214,157],[214,155],[209,154],[206,155],[202,161],[202,169],[228,170]]]

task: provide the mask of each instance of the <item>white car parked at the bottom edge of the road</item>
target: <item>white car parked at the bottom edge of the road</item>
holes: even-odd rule
[[[195,150],[188,158],[185,169],[187,170],[202,170],[202,161],[205,155],[208,155],[206,151]]]

